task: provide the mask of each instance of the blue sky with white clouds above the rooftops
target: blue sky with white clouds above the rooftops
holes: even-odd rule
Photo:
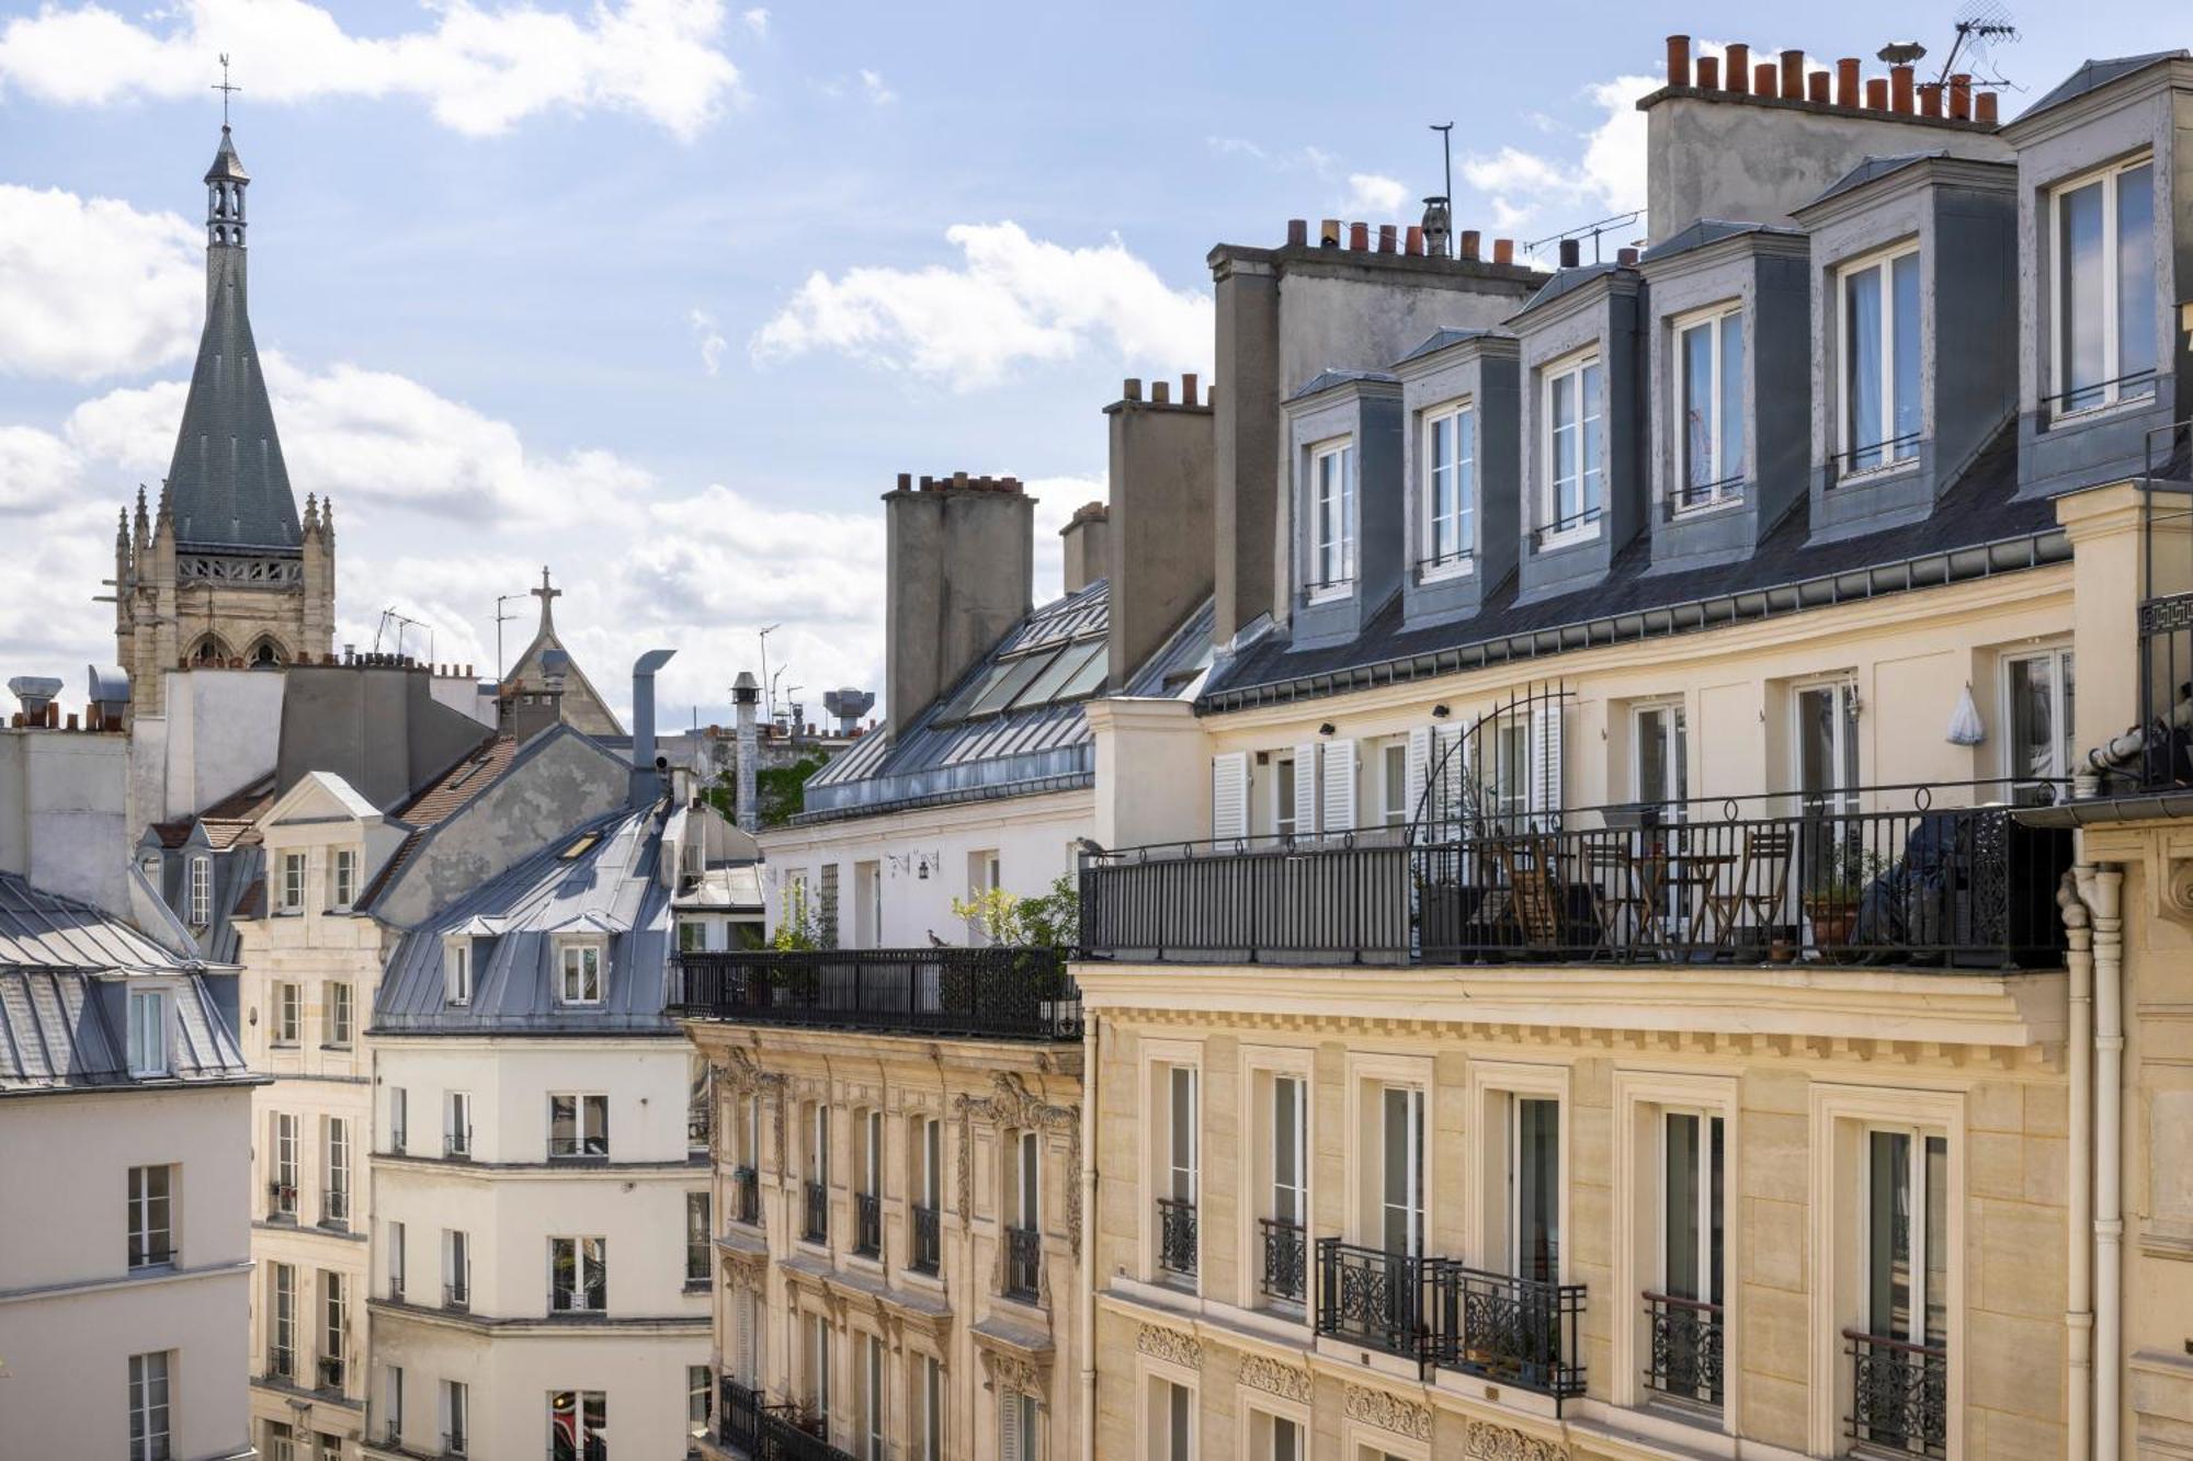
[[[1461,226],[1581,224],[1643,202],[1627,101],[1667,31],[1939,55],[1952,11],[0,4],[0,573],[39,584],[0,669],[112,654],[92,594],[173,441],[224,48],[340,638],[397,605],[485,669],[493,597],[548,562],[599,684],[662,643],[667,717],[711,720],[763,623],[809,704],[879,680],[897,472],[1035,483],[1055,592],[1118,380],[1206,369],[1215,241],[1414,219],[1450,118]],[[2029,94],[2189,39],[2173,4],[2031,11],[1996,57]]]

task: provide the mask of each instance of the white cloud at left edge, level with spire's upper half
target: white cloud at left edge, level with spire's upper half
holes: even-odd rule
[[[186,358],[202,250],[173,213],[0,182],[0,375],[92,380]]]

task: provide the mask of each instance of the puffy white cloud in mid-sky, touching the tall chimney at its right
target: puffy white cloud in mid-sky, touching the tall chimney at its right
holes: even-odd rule
[[[1167,287],[1118,237],[1066,248],[1004,222],[958,224],[945,239],[958,268],[809,274],[754,333],[754,360],[838,351],[965,390],[1101,342],[1151,371],[1208,371],[1211,296]]]

